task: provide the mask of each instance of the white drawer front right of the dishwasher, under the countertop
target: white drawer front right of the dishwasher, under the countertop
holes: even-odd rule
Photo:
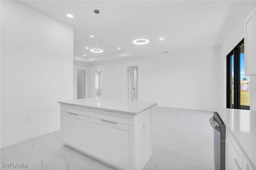
[[[233,153],[234,161],[237,161],[240,168],[242,168],[243,164],[243,153],[242,150],[239,148],[238,144],[235,142],[232,134],[227,130],[226,131],[226,141],[230,146],[230,151]]]

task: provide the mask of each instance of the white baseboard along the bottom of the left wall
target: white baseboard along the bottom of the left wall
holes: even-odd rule
[[[31,138],[36,138],[38,136],[42,136],[44,134],[54,132],[56,130],[60,130],[60,127],[50,128],[48,130],[40,131],[40,132],[37,132],[37,133],[34,133],[34,134],[29,134],[29,135],[23,136],[21,138],[17,138],[17,139],[14,139],[14,140],[9,140],[7,142],[2,142],[0,148],[4,148],[4,147],[10,146],[12,144],[17,144],[19,142],[23,142],[23,141],[31,139]]]

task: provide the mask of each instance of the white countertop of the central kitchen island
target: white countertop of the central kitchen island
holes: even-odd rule
[[[61,104],[77,105],[82,107],[89,107],[94,109],[104,109],[107,111],[118,111],[120,113],[130,113],[138,115],[143,111],[154,107],[157,103],[144,102],[144,101],[127,101],[127,100],[114,100],[103,98],[86,98],[86,99],[74,99],[68,101],[59,101]]]

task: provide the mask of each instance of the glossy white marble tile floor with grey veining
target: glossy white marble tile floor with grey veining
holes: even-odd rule
[[[214,170],[209,111],[154,107],[152,158],[145,170]],[[60,141],[60,131],[1,148],[1,170],[115,170]],[[27,163],[3,168],[2,163]]]

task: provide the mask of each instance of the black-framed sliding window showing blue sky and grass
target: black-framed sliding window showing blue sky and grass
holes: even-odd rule
[[[244,76],[244,40],[227,55],[227,108],[250,109],[250,77]]]

